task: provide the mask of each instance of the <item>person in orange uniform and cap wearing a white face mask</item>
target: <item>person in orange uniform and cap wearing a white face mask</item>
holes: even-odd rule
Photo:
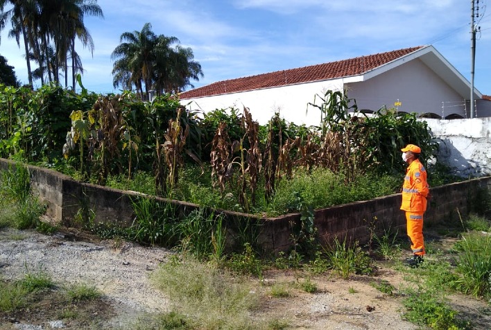
[[[427,171],[420,162],[421,148],[408,144],[401,149],[402,159],[408,164],[402,185],[401,209],[406,211],[407,234],[411,239],[413,257],[408,259],[410,266],[418,266],[423,261],[423,214],[427,210],[429,186]]]

